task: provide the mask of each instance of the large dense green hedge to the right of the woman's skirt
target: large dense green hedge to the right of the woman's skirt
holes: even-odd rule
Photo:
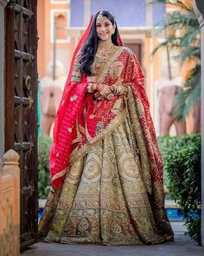
[[[181,207],[190,237],[201,242],[201,135],[160,138],[164,173]]]

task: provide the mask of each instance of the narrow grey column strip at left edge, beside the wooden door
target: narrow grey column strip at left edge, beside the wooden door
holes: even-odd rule
[[[8,2],[0,0],[0,157],[4,153],[4,8]]]

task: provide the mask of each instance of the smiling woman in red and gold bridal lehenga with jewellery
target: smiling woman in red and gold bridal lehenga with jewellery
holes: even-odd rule
[[[163,161],[143,71],[112,14],[93,16],[73,56],[54,125],[44,240],[108,245],[172,240]]]

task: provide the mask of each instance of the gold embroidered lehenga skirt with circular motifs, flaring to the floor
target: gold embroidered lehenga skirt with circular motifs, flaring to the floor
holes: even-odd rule
[[[50,192],[41,236],[49,242],[112,245],[171,240],[170,227],[162,235],[156,226],[141,154],[145,150],[138,150],[126,115],[110,135],[73,162],[61,189]]]

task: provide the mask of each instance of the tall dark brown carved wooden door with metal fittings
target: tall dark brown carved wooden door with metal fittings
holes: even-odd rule
[[[20,154],[21,248],[37,239],[37,0],[12,0],[5,25],[5,150]]]

